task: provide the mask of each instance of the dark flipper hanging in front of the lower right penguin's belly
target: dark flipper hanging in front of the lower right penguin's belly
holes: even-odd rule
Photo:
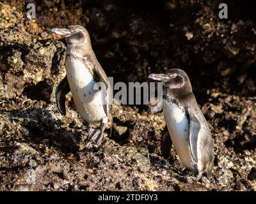
[[[164,159],[167,159],[170,156],[171,147],[172,147],[172,140],[170,138],[170,134],[167,129],[167,126],[165,126],[161,136],[161,153]]]

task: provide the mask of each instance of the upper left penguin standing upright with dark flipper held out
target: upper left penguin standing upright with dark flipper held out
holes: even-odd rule
[[[66,115],[65,96],[71,91],[77,112],[83,120],[99,124],[87,141],[99,143],[108,119],[112,118],[112,89],[93,52],[89,33],[81,25],[70,25],[68,29],[53,28],[51,32],[64,36],[67,42],[66,76],[56,87],[58,110]]]

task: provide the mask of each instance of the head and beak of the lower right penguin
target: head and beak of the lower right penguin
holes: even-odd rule
[[[163,82],[163,86],[168,89],[186,89],[192,92],[188,75],[182,69],[169,69],[166,74],[151,74],[148,78]]]

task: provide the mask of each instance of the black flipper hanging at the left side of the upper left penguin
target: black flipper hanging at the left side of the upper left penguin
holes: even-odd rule
[[[55,92],[55,98],[56,98],[56,103],[59,112],[61,115],[66,115],[66,106],[65,106],[65,101],[66,101],[66,95],[70,92],[70,87],[68,84],[68,79],[67,75],[61,80],[60,84],[58,84]]]

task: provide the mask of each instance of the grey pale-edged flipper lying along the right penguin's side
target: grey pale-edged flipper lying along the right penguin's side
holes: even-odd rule
[[[197,143],[198,143],[198,137],[201,129],[201,125],[199,120],[196,118],[195,113],[193,111],[187,111],[186,115],[188,115],[189,120],[189,146],[190,151],[193,159],[197,163],[198,157],[197,157]]]

